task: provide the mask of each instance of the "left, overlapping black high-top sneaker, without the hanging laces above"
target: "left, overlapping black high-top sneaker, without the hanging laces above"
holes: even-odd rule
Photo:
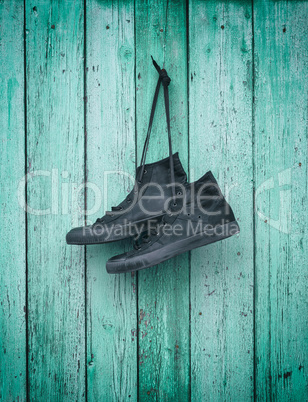
[[[177,189],[184,187],[187,176],[178,153],[172,156]],[[170,186],[170,160],[144,165],[142,179],[137,168],[133,190],[117,207],[97,219],[90,226],[72,229],[66,235],[68,244],[99,244],[125,239],[147,230],[147,221],[152,225],[165,214],[172,198]]]

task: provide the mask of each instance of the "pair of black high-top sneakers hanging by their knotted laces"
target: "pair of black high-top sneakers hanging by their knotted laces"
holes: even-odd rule
[[[152,58],[153,60],[153,58]],[[160,69],[141,164],[133,190],[117,207],[93,225],[72,229],[68,244],[90,245],[135,237],[131,251],[112,257],[110,274],[152,267],[186,251],[239,233],[230,205],[211,172],[194,183],[187,182],[178,153],[172,154],[169,94],[170,78]],[[164,88],[169,157],[146,164],[150,133],[160,86]]]

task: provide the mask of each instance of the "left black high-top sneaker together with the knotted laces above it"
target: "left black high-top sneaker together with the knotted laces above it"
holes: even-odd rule
[[[93,225],[78,227],[69,231],[66,235],[68,244],[108,243],[138,235],[140,231],[147,229],[146,222],[154,221],[157,223],[162,218],[170,203],[170,197],[174,200],[176,193],[181,193],[181,188],[187,183],[187,176],[178,153],[172,155],[168,93],[168,86],[171,80],[166,70],[161,70],[154,60],[153,64],[159,73],[159,78],[155,89],[141,164],[136,172],[135,186],[124,201],[117,207],[112,207],[112,211],[97,219]],[[146,154],[161,85],[164,88],[169,158],[146,164]]]

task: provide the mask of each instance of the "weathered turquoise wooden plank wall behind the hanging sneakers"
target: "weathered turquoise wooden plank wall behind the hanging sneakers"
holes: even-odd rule
[[[307,401],[308,2],[1,0],[0,24],[0,400]],[[111,276],[129,240],[65,234],[130,189],[150,55],[241,233]]]

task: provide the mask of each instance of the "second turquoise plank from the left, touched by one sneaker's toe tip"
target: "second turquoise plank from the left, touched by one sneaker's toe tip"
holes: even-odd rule
[[[79,0],[26,1],[28,203],[50,209],[28,214],[30,400],[85,398],[84,248],[65,243],[83,223],[83,18]]]

